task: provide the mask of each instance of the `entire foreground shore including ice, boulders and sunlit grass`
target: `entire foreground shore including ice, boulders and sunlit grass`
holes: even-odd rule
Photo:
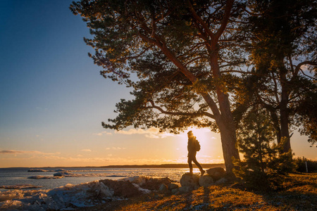
[[[9,190],[0,210],[316,210],[317,174],[291,174],[279,191],[248,191],[222,168],[180,181],[127,177],[50,190]],[[298,200],[300,199],[300,200]]]

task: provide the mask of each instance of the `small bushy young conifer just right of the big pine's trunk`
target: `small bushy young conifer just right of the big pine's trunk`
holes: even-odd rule
[[[235,175],[251,188],[273,188],[280,175],[293,170],[292,154],[279,154],[282,144],[275,143],[275,130],[265,110],[249,111],[241,123],[237,140],[244,160],[236,160]]]

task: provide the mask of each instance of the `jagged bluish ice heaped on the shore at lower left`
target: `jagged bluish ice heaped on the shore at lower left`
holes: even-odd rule
[[[89,207],[113,197],[113,191],[102,182],[67,184],[51,190],[10,190],[0,194],[1,210],[71,210]]]

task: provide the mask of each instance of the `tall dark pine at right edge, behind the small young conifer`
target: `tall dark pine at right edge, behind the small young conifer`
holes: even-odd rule
[[[278,143],[286,140],[283,152],[291,149],[292,126],[314,143],[317,116],[309,110],[317,106],[317,1],[250,0],[248,5],[249,58],[257,78],[251,94],[270,113]]]

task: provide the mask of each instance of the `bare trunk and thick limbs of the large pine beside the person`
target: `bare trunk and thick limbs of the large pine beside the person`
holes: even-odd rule
[[[210,33],[209,36],[211,36],[211,43],[206,44],[206,47],[210,53],[210,65],[211,65],[211,72],[213,74],[214,79],[221,79],[220,69],[218,65],[218,39],[220,35],[223,33],[223,30],[225,30],[225,27],[228,23],[229,17],[230,17],[230,11],[232,8],[233,0],[228,0],[226,7],[225,7],[225,13],[223,16],[223,21],[221,23],[221,26],[216,32],[216,34]],[[197,18],[198,23],[201,23],[201,18],[198,17],[198,15],[193,11],[194,16]],[[147,29],[144,29],[147,31]],[[157,34],[152,34],[153,38],[149,38],[145,36],[142,33],[139,33],[139,36],[144,40],[148,41],[151,44],[155,44],[158,46],[161,51],[172,61],[179,69],[180,72],[182,72],[192,83],[197,81],[197,77],[187,69],[187,65],[182,63],[177,56],[173,53],[173,51],[170,51],[168,49],[168,46],[166,46],[166,42],[162,37],[160,37]],[[206,39],[206,41],[209,41],[209,39]],[[220,80],[219,80],[220,81]],[[220,136],[221,136],[221,142],[223,146],[223,158],[225,159],[225,167],[228,173],[232,173],[232,169],[234,167],[232,162],[232,157],[236,159],[240,159],[239,152],[237,150],[236,142],[236,134],[235,134],[235,124],[232,117],[232,113],[230,110],[230,102],[228,98],[228,94],[225,94],[225,92],[221,89],[221,86],[216,84],[216,93],[218,98],[219,107],[216,105],[215,101],[211,98],[209,93],[201,92],[201,96],[203,96],[206,103],[209,105],[209,108],[211,108],[213,112],[213,116],[216,120],[216,123],[218,124],[218,127],[220,129]]]

